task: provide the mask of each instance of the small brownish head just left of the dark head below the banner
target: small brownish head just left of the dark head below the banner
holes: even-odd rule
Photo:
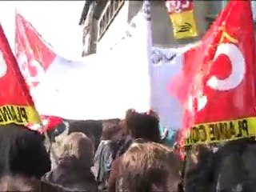
[[[103,122],[102,127],[103,140],[117,140],[121,138],[122,129],[119,122]]]

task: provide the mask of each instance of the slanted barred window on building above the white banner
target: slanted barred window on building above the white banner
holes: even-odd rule
[[[108,26],[113,21],[118,11],[122,8],[124,0],[111,0],[106,3],[100,18],[98,19],[98,40],[105,34]]]

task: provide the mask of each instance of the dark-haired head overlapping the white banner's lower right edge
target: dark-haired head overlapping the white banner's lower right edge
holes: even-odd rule
[[[159,121],[149,114],[131,113],[126,118],[126,132],[133,139],[143,138],[150,142],[161,142]]]

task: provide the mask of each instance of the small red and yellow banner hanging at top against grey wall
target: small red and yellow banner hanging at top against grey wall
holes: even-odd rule
[[[181,39],[198,36],[192,0],[166,0],[166,7],[173,24],[174,38]]]

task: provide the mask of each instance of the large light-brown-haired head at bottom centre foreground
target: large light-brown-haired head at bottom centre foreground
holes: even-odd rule
[[[166,146],[136,143],[122,158],[118,186],[129,192],[177,192],[181,169],[178,156]]]

